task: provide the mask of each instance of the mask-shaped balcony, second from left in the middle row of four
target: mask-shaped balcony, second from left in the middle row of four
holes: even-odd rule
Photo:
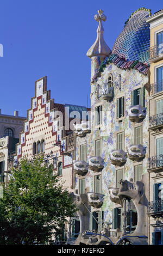
[[[89,169],[94,170],[95,172],[101,172],[104,168],[104,160],[101,156],[89,156]]]

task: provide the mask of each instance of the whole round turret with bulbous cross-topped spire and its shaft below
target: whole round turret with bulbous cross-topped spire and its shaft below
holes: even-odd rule
[[[97,39],[91,48],[87,51],[86,55],[91,58],[91,77],[93,77],[95,70],[98,69],[99,65],[103,60],[110,55],[111,50],[106,44],[103,34],[104,28],[102,21],[106,21],[106,16],[103,14],[103,10],[98,10],[98,15],[94,16],[95,20],[99,22],[97,28]]]

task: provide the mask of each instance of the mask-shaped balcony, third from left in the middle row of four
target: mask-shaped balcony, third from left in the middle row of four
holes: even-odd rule
[[[115,166],[124,166],[127,161],[127,153],[122,149],[120,150],[111,150],[110,151],[110,160],[111,163]]]

